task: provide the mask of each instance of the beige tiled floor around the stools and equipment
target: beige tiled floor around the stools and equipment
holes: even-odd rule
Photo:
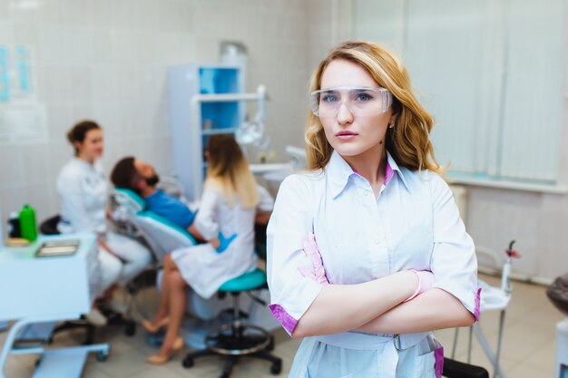
[[[498,279],[483,276],[490,285],[498,285]],[[509,378],[544,378],[553,377],[555,325],[563,319],[548,301],[543,286],[514,283],[513,299],[506,312],[504,326],[504,345],[502,364],[504,373]],[[146,296],[153,303],[155,296]],[[482,314],[481,327],[489,342],[495,345],[498,329],[498,313]],[[467,356],[467,329],[460,332],[456,349],[456,359],[465,361]],[[77,343],[80,334],[60,334],[55,344]],[[436,332],[436,337],[446,346],[446,355],[451,354],[454,330]],[[105,330],[98,335],[101,341],[109,341],[112,353],[104,363],[99,363],[90,356],[86,363],[83,378],[168,378],[200,377],[213,378],[220,375],[222,364],[216,358],[202,359],[191,369],[181,366],[181,357],[174,357],[171,363],[152,366],[144,362],[147,355],[156,349],[146,342],[143,332],[133,337],[126,337],[118,330]],[[5,333],[0,334],[0,343],[5,340]],[[283,333],[277,333],[274,354],[284,360],[282,373],[285,377],[294,357],[299,341],[289,339]],[[5,368],[6,378],[26,378],[34,372],[35,357],[30,355],[10,356]],[[491,363],[485,357],[481,346],[474,340],[472,363],[485,366],[491,373]],[[252,360],[242,361],[233,371],[233,378],[270,377],[269,363]]]

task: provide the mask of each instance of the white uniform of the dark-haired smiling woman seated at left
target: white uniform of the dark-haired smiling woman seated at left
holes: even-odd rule
[[[92,165],[78,158],[68,161],[57,177],[57,193],[62,218],[57,225],[59,232],[93,232],[103,237],[113,253],[123,260],[99,248],[100,293],[115,282],[126,284],[150,263],[152,255],[146,247],[107,230],[108,183],[99,162]]]

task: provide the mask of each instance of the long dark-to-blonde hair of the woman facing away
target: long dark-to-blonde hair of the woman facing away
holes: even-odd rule
[[[220,190],[231,207],[235,194],[243,208],[256,207],[259,203],[257,183],[250,172],[249,162],[232,135],[212,135],[207,153],[205,188]]]

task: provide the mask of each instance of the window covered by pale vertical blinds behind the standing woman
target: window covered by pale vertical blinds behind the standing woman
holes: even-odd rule
[[[555,183],[563,0],[354,0],[352,24],[403,58],[450,178]]]

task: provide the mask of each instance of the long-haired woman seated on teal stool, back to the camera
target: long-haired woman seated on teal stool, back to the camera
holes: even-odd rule
[[[239,145],[231,135],[211,136],[207,147],[208,170],[200,208],[192,223],[207,244],[175,250],[164,259],[162,300],[150,332],[167,325],[158,354],[149,363],[166,363],[183,347],[181,320],[186,308],[186,286],[210,298],[226,281],[254,270],[255,218],[270,212],[273,199],[260,188]],[[191,232],[191,229],[190,229]]]

